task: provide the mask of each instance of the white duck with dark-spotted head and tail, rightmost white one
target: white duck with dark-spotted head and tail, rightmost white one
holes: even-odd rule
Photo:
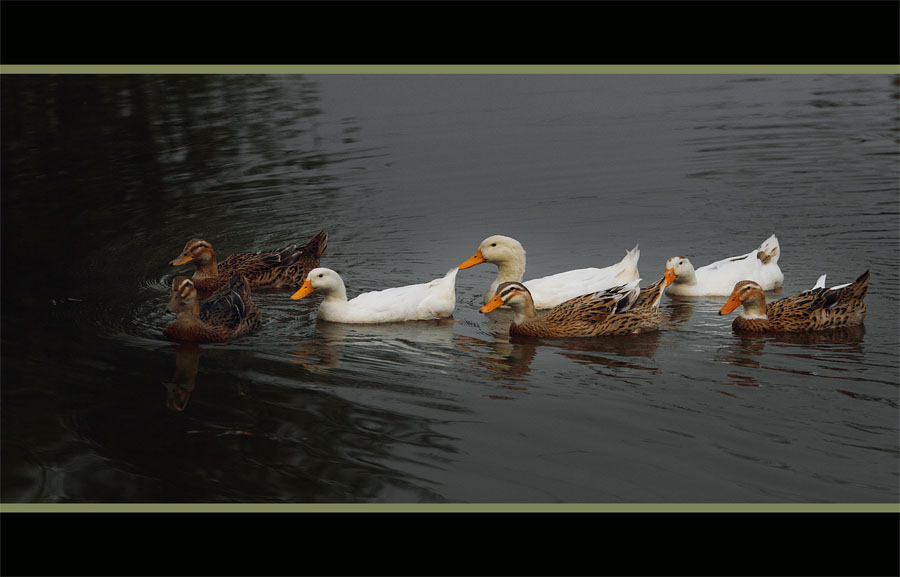
[[[752,280],[763,290],[772,290],[784,282],[784,274],[778,268],[779,256],[781,247],[774,234],[752,252],[725,258],[696,270],[686,257],[673,256],[666,261],[666,270],[675,274],[675,281],[666,288],[666,294],[728,296],[734,283],[740,280]]]

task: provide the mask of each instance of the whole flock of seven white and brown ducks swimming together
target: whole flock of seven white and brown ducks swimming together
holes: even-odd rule
[[[456,308],[456,277],[482,263],[497,267],[497,278],[484,293],[490,313],[512,309],[509,334],[519,337],[602,337],[658,330],[663,293],[684,296],[728,296],[719,310],[728,314],[740,306],[735,331],[808,332],[862,324],[869,283],[866,270],[855,281],[827,288],[825,275],[798,295],[771,303],[765,291],[784,282],[778,267],[781,247],[775,235],[759,248],[695,269],[683,256],[666,261],[662,277],[640,286],[640,249],[604,268],[583,268],[523,281],[525,249],[508,236],[490,236],[475,254],[430,282],[362,293],[347,298],[343,279],[320,267],[328,246],[322,231],[303,245],[279,250],[232,254],[217,262],[212,244],[192,239],[169,264],[194,263],[190,277],[172,280],[167,310],[175,321],[163,333],[173,340],[227,341],[260,325],[252,291],[289,290],[291,299],[321,295],[317,318],[336,323],[391,323],[449,317]],[[206,297],[205,300],[201,300]],[[539,314],[538,311],[546,311]]]

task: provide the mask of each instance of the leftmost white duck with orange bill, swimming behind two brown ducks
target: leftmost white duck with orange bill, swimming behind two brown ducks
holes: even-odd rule
[[[313,291],[325,298],[318,318],[337,323],[392,323],[448,317],[456,306],[454,268],[431,282],[363,293],[347,300],[341,276],[329,268],[309,271],[303,286],[291,295],[299,300]]]

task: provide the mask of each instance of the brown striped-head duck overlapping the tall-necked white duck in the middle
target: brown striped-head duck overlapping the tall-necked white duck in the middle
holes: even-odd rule
[[[488,313],[509,305],[514,314],[510,336],[597,337],[654,331],[659,329],[659,301],[669,280],[663,277],[644,289],[638,286],[640,280],[567,300],[540,318],[528,287],[504,282],[479,310]]]

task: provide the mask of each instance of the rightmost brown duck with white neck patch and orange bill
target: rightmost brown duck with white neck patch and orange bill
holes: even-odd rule
[[[832,288],[825,288],[823,276],[809,290],[766,304],[762,286],[743,280],[734,285],[719,314],[727,315],[744,305],[744,311],[731,325],[736,331],[801,332],[855,326],[866,317],[863,299],[868,287],[868,270],[852,283]]]

